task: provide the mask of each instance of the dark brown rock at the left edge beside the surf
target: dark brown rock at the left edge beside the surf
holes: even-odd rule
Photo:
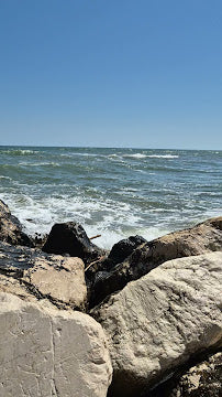
[[[11,215],[7,204],[0,200],[0,240],[12,245],[33,247],[31,238],[22,232],[19,219]]]

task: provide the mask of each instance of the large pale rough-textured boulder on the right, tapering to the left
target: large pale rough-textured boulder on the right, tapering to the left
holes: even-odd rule
[[[222,253],[167,261],[91,311],[109,339],[111,397],[137,397],[222,345]]]

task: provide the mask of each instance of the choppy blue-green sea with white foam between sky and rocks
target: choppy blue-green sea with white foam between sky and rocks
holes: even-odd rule
[[[29,235],[78,222],[103,248],[222,215],[222,151],[0,147],[0,198]]]

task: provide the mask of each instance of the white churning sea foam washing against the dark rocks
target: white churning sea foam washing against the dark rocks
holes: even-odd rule
[[[116,204],[112,200],[85,200],[84,197],[51,197],[34,200],[27,195],[1,195],[11,212],[18,216],[29,235],[47,234],[58,222],[78,222],[88,236],[101,234],[97,244],[103,248],[111,246],[121,238],[136,234],[141,217],[133,214],[126,203]],[[129,230],[123,232],[122,225]]]

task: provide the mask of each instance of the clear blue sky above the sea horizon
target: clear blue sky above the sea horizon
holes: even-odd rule
[[[222,1],[0,0],[0,144],[222,149]]]

